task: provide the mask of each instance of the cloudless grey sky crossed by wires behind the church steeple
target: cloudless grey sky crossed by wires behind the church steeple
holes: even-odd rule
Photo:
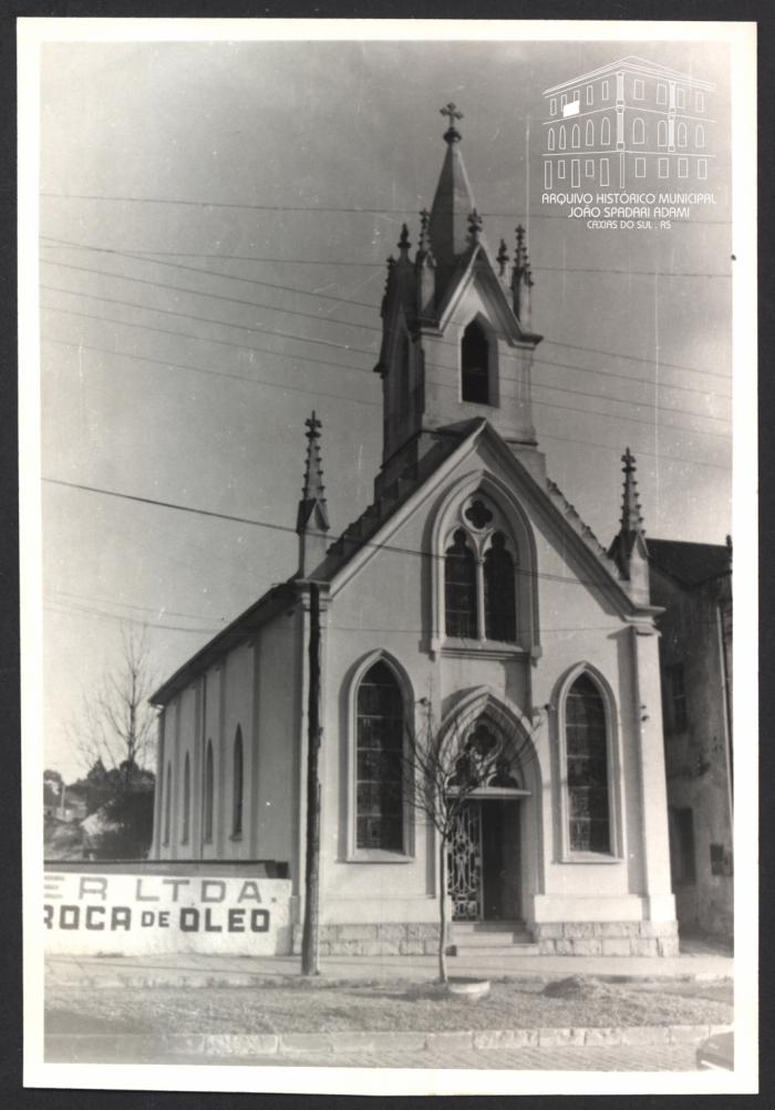
[[[542,90],[629,53],[716,85],[716,203],[670,232],[541,203]],[[370,502],[385,261],[405,220],[417,243],[449,100],[487,241],[528,226],[550,477],[608,544],[629,445],[647,536],[731,531],[723,44],[45,44],[42,474],[272,526],[43,484],[45,764],[67,779],[122,623],[161,682],[296,569],[310,410],[333,537]]]

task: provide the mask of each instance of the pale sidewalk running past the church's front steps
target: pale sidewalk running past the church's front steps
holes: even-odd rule
[[[734,960],[691,949],[682,956],[487,956],[449,957],[450,976],[503,978],[564,978],[570,975],[598,979],[679,978],[710,981],[733,976]],[[90,987],[215,987],[249,986],[262,979],[297,978],[298,956],[53,956],[45,957],[50,986],[68,983]],[[320,961],[326,979],[434,979],[434,956],[327,956]]]

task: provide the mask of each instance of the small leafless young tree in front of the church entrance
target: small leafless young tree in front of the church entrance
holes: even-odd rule
[[[437,834],[439,874],[439,980],[447,982],[447,857],[466,809],[477,791],[496,787],[506,791],[519,787],[519,768],[533,758],[530,735],[503,736],[485,712],[473,725],[453,725],[435,733],[430,706],[426,727],[418,734],[411,724],[405,729],[401,756],[401,794],[411,809],[421,815]]]

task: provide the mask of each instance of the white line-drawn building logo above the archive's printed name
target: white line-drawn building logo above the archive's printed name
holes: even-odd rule
[[[702,185],[714,88],[629,56],[545,89],[544,189]]]

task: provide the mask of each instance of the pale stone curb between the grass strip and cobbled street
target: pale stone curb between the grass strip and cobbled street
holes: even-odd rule
[[[227,1057],[336,1056],[347,1052],[490,1051],[499,1048],[614,1047],[618,1045],[686,1045],[732,1026],[626,1026],[570,1029],[469,1029],[449,1032],[340,1033],[49,1033],[45,1059],[71,1062],[111,1060],[129,1063],[160,1056]]]

